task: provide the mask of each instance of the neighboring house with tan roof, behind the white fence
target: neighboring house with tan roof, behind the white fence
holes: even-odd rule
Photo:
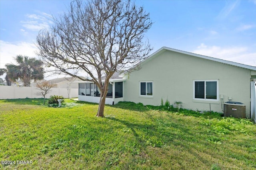
[[[63,77],[63,78],[54,78],[49,81],[52,84],[54,84],[53,88],[78,88],[78,82],[82,80],[76,77]]]

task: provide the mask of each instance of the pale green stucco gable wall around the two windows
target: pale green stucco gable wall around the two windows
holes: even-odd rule
[[[193,80],[218,80],[219,94],[232,101],[246,105],[246,116],[250,117],[250,70],[227,64],[200,59],[173,51],[158,53],[156,57],[142,63],[141,69],[130,73],[124,82],[124,101],[160,105],[161,98],[174,104],[181,101],[182,107],[193,110],[222,112],[217,102],[193,100]],[[139,95],[139,81],[153,81],[153,97]]]

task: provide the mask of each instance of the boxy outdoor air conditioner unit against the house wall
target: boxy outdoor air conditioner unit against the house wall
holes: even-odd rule
[[[224,103],[224,116],[245,118],[245,105],[240,102],[225,102]]]

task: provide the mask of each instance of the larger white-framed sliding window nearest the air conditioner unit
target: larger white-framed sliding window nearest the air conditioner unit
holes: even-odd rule
[[[193,99],[218,100],[218,80],[194,80]]]

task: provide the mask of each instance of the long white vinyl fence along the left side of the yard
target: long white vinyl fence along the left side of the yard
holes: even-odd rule
[[[22,98],[42,98],[41,90],[36,87],[17,87],[17,86],[0,86],[0,99],[22,99]],[[78,98],[78,89],[51,88],[51,92],[46,94],[46,98],[51,95],[63,96],[64,98]]]

